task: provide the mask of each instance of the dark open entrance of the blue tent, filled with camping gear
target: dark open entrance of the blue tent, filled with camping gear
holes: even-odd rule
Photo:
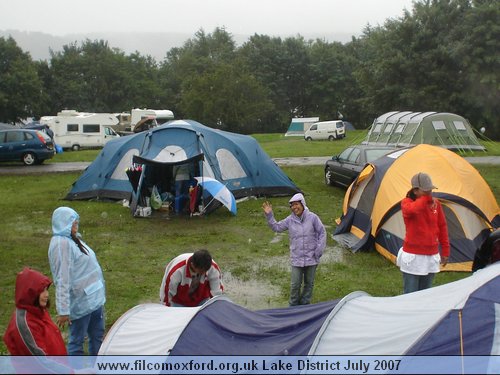
[[[158,162],[134,156],[130,210],[136,217],[155,213],[203,212],[201,186],[194,177],[203,175],[203,154],[176,162]]]

